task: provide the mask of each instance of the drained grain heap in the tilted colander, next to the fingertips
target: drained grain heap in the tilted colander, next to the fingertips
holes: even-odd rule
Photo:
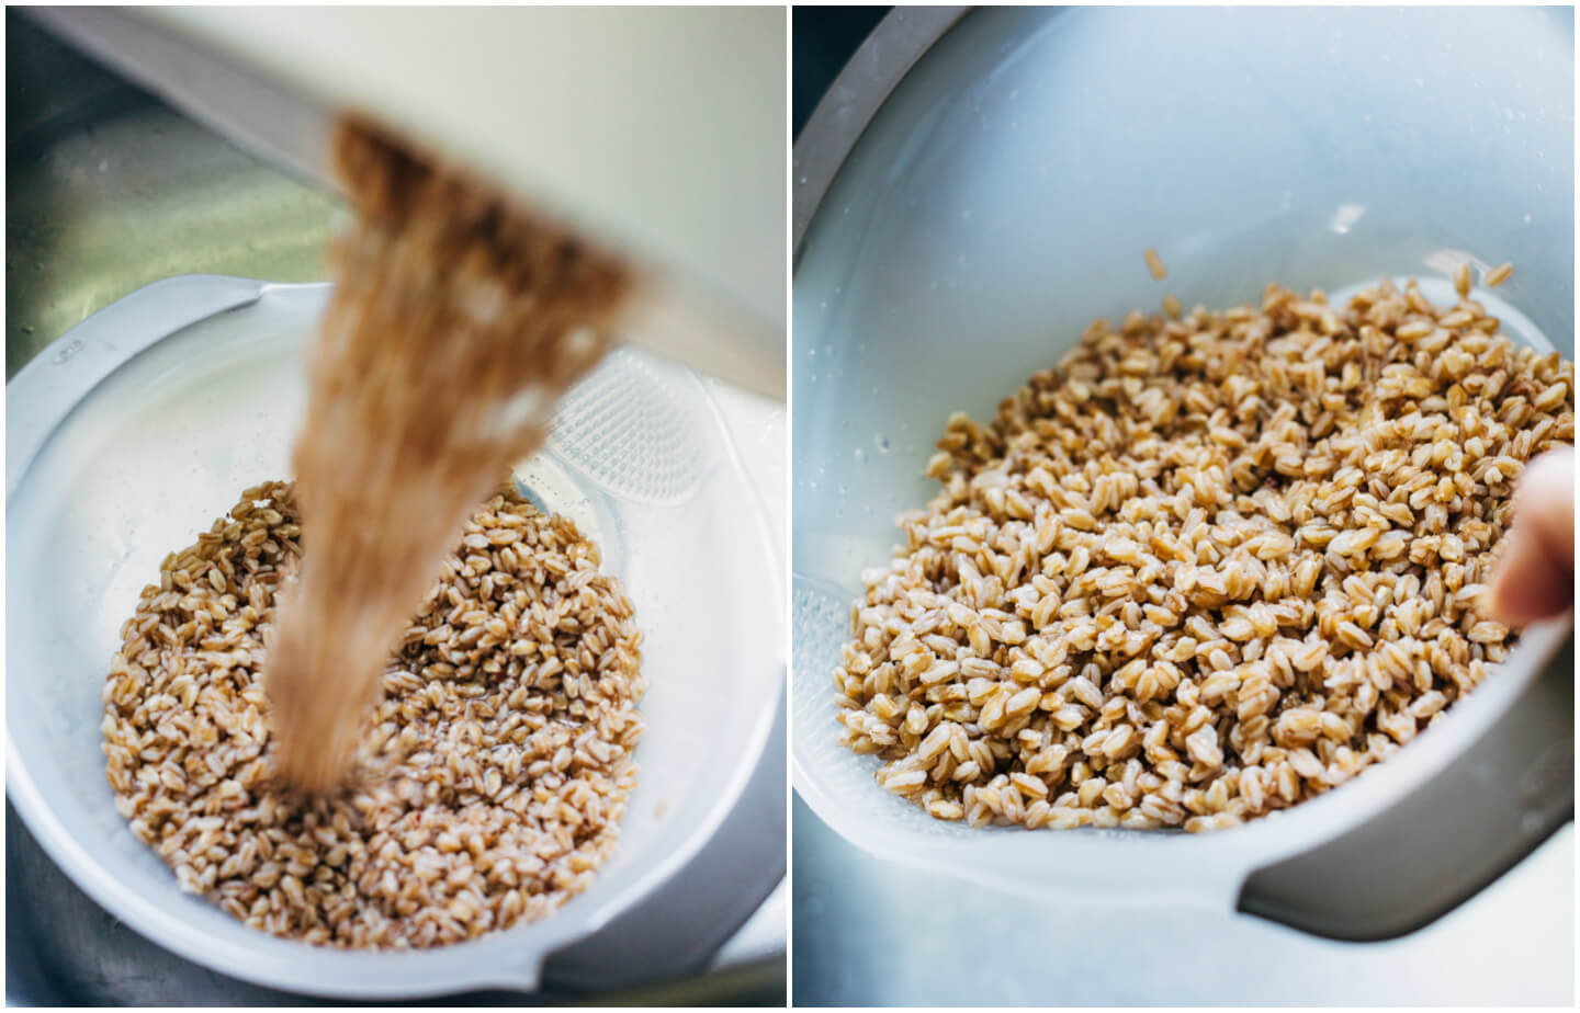
[[[939,819],[1209,830],[1409,742],[1507,655],[1514,481],[1574,442],[1574,364],[1455,282],[1169,298],[954,415],[863,574],[845,743]]]

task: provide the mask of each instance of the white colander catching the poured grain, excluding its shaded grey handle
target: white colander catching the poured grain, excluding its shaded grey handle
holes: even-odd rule
[[[303,342],[329,286],[190,276],[73,328],[6,388],[6,792],[95,901],[175,953],[248,981],[346,997],[536,986],[544,959],[653,895],[732,811],[784,686],[769,519],[714,399],[619,349],[517,469],[604,549],[643,630],[648,731],[621,843],[555,915],[453,947],[335,951],[256,933],[179,893],[115,813],[100,691],[160,560],[237,494],[289,475]],[[777,443],[782,447],[782,443]],[[768,469],[773,472],[773,469]]]

